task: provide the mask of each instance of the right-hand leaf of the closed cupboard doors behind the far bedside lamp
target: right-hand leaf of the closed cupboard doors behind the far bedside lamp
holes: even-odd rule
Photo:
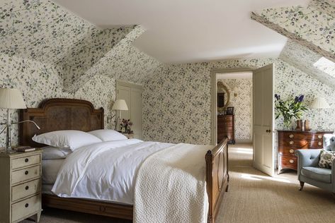
[[[142,90],[138,88],[131,89],[130,116],[132,120],[132,131],[134,137],[142,139]]]

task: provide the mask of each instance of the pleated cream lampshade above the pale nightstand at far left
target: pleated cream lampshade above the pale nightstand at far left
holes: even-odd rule
[[[0,108],[26,109],[21,92],[15,88],[0,88]]]

